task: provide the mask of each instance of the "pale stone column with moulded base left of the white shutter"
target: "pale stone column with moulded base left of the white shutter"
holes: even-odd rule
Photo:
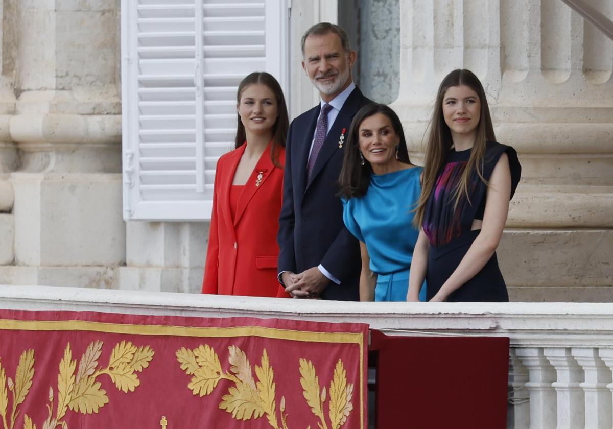
[[[17,94],[8,134],[19,162],[10,173],[15,265],[0,278],[113,287],[125,261],[119,1],[4,5],[12,32],[3,63]]]

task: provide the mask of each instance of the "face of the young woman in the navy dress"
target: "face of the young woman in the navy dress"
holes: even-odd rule
[[[474,134],[481,118],[478,94],[466,85],[447,88],[443,96],[443,118],[452,137]]]

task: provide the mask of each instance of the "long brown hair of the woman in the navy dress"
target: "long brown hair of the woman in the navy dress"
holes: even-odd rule
[[[460,201],[460,197],[465,196],[468,203],[470,196],[468,195],[468,184],[473,172],[477,172],[478,177],[487,185],[487,180],[483,177],[483,159],[487,142],[496,141],[494,128],[492,125],[492,116],[490,108],[487,105],[487,98],[483,85],[479,82],[479,78],[473,72],[466,69],[457,69],[449,73],[441,82],[436,94],[436,102],[432,119],[430,120],[430,135],[428,137],[428,145],[425,151],[424,161],[424,178],[422,180],[422,192],[417,201],[415,218],[413,220],[416,226],[421,226],[424,222],[425,206],[430,198],[430,194],[436,186],[436,177],[438,172],[443,167],[443,163],[447,157],[447,153],[451,149],[453,140],[451,139],[451,131],[445,123],[443,117],[443,99],[447,89],[451,86],[466,85],[479,96],[481,103],[481,114],[479,115],[479,124],[476,128],[473,148],[470,153],[470,158],[466,164],[466,168],[462,172],[462,177],[454,189],[455,204],[454,210]]]

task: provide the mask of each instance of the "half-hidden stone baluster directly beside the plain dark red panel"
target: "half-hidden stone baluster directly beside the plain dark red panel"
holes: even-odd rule
[[[528,370],[517,357],[515,349],[509,351],[509,405],[506,427],[527,428],[530,426],[530,398],[525,384]]]

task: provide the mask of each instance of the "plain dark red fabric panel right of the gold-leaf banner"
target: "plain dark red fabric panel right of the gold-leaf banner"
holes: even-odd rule
[[[377,429],[506,428],[509,338],[387,336],[377,354]]]

